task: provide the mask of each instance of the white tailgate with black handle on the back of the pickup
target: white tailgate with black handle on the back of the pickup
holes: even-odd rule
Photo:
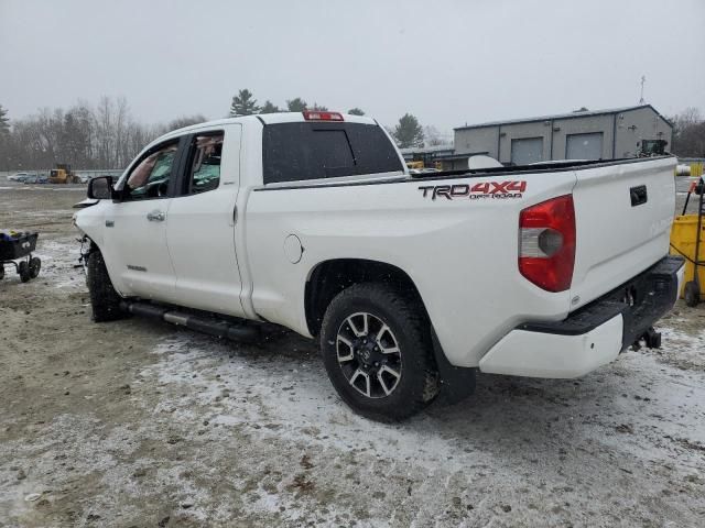
[[[669,253],[675,163],[674,157],[660,157],[576,170],[571,310]]]

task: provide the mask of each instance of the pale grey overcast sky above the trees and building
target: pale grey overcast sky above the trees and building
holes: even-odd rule
[[[703,0],[0,0],[0,105],[215,119],[249,88],[449,131],[634,105],[646,75],[662,113],[705,113],[704,23]]]

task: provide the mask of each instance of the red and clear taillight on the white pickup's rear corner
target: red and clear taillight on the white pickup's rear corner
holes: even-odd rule
[[[573,196],[542,201],[519,216],[519,272],[540,288],[571,287],[575,264]]]

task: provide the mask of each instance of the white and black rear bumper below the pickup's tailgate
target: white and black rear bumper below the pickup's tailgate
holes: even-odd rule
[[[494,374],[577,377],[615,360],[665,315],[683,282],[684,261],[666,256],[563,321],[520,324],[480,360]]]

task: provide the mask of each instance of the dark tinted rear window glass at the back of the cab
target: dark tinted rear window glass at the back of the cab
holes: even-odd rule
[[[403,170],[397,151],[375,124],[269,124],[262,148],[265,184]]]

